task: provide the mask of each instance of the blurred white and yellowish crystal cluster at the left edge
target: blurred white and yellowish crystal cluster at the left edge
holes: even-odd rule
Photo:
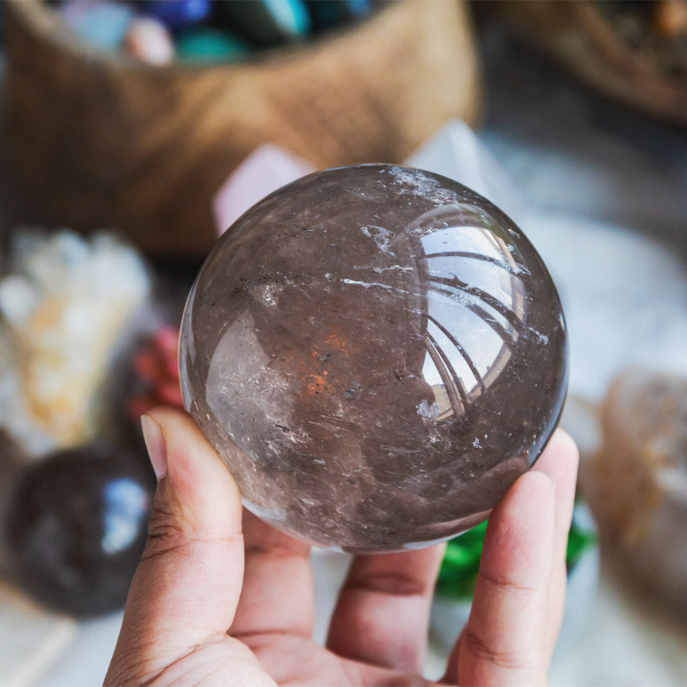
[[[20,229],[0,278],[0,426],[32,455],[93,436],[99,390],[150,292],[137,251],[108,233]]]

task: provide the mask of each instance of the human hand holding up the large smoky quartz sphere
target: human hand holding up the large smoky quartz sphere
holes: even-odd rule
[[[144,433],[159,481],[106,685],[432,684],[420,675],[442,546],[354,559],[319,646],[308,545],[249,513],[242,526],[236,483],[188,415],[155,409]],[[576,466],[556,431],[494,509],[440,684],[545,684]]]

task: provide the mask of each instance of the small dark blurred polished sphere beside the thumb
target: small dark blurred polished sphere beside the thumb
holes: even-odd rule
[[[27,469],[3,533],[16,583],[72,616],[122,607],[152,505],[155,480],[141,463],[100,444],[58,451]]]

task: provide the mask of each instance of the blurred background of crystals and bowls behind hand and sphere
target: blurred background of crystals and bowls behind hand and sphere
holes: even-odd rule
[[[368,161],[491,199],[561,294],[583,460],[550,681],[687,684],[687,2],[0,11],[0,684],[102,682],[194,275],[264,194]],[[447,548],[429,677],[482,536]],[[348,559],[313,562],[322,638]]]

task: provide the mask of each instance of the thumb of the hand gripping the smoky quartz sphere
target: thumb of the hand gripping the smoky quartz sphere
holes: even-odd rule
[[[157,492],[113,678],[116,666],[135,669],[137,679],[154,676],[193,647],[223,638],[243,581],[242,508],[232,475],[188,414],[157,408],[142,426]]]

